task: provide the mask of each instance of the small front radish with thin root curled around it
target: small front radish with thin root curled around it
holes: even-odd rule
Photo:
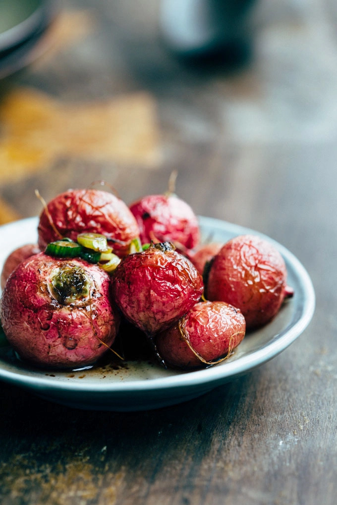
[[[245,318],[238,309],[222,301],[199,302],[157,335],[156,346],[165,365],[185,370],[205,367],[227,357],[245,331]]]

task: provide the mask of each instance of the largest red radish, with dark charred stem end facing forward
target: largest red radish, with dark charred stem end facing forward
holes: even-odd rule
[[[91,365],[112,345],[118,329],[109,288],[109,275],[97,265],[43,253],[28,258],[9,277],[2,296],[9,343],[40,367]]]

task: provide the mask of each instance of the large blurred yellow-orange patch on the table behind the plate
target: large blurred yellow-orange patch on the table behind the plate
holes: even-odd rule
[[[156,106],[148,93],[105,102],[64,103],[21,88],[0,104],[0,181],[77,157],[156,167]]]

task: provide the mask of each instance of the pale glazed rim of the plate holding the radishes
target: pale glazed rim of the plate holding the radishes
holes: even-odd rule
[[[1,367],[0,364],[0,380],[16,384],[18,386],[29,388],[29,389],[48,389],[51,391],[60,392],[87,392],[94,393],[100,392],[104,394],[114,394],[114,393],[131,393],[131,392],[156,392],[156,391],[168,391],[175,388],[192,388],[199,385],[212,387],[212,383],[223,382],[228,379],[234,379],[238,375],[242,375],[264,363],[276,357],[280,352],[285,350],[291,343],[293,343],[296,338],[298,338],[303,331],[306,329],[310,323],[314,310],[315,310],[315,291],[311,281],[311,278],[300,262],[300,260],[285,246],[281,245],[276,240],[271,237],[260,233],[251,228],[247,228],[241,225],[236,225],[228,221],[224,221],[217,218],[198,216],[201,228],[211,225],[213,228],[218,228],[223,230],[224,228],[229,233],[235,235],[253,233],[262,238],[267,239],[271,242],[282,254],[286,263],[293,267],[293,271],[296,273],[302,290],[304,293],[304,299],[302,303],[301,314],[298,320],[293,323],[291,322],[282,331],[273,336],[272,341],[265,343],[262,347],[256,349],[246,356],[239,357],[237,360],[226,362],[225,366],[222,367],[210,367],[203,370],[196,370],[190,372],[182,372],[176,375],[153,378],[153,379],[139,379],[139,380],[129,380],[126,382],[105,382],[99,383],[95,382],[74,382],[74,381],[52,381],[46,377],[33,377],[25,375],[22,372],[11,372],[6,371]],[[2,225],[0,231],[4,228],[12,228],[13,226],[24,225],[25,223],[37,224],[37,217],[31,217],[15,221]],[[24,371],[23,371],[24,372]],[[41,373],[45,373],[41,371]]]

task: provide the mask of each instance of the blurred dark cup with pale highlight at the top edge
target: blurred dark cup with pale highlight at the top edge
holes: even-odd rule
[[[251,53],[247,18],[255,0],[161,0],[167,47],[185,60],[244,63]]]

